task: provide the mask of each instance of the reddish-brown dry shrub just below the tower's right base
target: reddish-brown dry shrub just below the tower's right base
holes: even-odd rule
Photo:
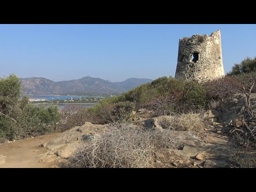
[[[207,81],[204,84],[206,95],[209,100],[222,100],[235,93],[243,92],[243,85],[234,77],[224,76]]]

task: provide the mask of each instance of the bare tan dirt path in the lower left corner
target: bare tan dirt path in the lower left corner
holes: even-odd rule
[[[56,162],[39,162],[39,155],[47,151],[40,145],[58,134],[60,133],[0,144],[0,155],[6,156],[6,162],[0,168],[50,168],[57,165]]]

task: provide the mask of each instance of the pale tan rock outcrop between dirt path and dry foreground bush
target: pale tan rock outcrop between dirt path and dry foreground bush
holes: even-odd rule
[[[94,137],[94,135],[101,135],[107,131],[105,125],[94,125],[86,122],[82,126],[75,126],[72,129],[59,134],[56,138],[49,142],[43,143],[41,146],[49,149],[46,154],[41,157],[41,160],[47,158],[68,158],[77,149],[82,142],[86,142]],[[56,156],[57,155],[57,156]]]

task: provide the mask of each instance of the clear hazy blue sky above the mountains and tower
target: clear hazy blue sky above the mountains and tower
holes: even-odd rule
[[[225,73],[256,56],[256,25],[0,25],[0,77],[173,76],[179,38],[221,31]]]

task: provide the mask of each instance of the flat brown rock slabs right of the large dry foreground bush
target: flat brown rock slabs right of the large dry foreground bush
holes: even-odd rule
[[[169,149],[169,153],[180,156],[183,161],[189,159],[198,167],[230,167],[229,158],[237,154],[234,144],[227,140],[213,137],[199,139],[190,131],[176,131],[179,138],[184,139],[182,150]]]

